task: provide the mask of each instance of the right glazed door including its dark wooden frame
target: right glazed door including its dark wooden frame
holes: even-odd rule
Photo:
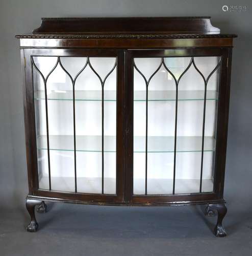
[[[128,52],[128,201],[218,199],[226,60],[220,49]]]

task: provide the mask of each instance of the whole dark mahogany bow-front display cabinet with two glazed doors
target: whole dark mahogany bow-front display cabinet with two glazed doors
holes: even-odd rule
[[[233,34],[210,17],[42,18],[20,38],[31,216],[205,204],[222,220]]]

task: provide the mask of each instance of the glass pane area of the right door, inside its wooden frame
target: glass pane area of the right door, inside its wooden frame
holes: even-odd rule
[[[219,65],[134,58],[134,195],[213,191]]]

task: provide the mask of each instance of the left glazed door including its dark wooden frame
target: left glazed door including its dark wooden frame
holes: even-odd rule
[[[123,55],[27,49],[25,57],[33,195],[121,201]]]

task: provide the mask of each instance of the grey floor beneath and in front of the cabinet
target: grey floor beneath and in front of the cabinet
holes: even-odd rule
[[[25,230],[24,208],[1,211],[0,255],[239,255],[252,254],[252,216],[232,198],[216,238],[216,218],[200,206],[115,207],[48,204],[37,214],[39,230]],[[227,201],[228,201],[227,200]],[[248,200],[250,201],[250,200]],[[244,209],[244,210],[243,210]]]

